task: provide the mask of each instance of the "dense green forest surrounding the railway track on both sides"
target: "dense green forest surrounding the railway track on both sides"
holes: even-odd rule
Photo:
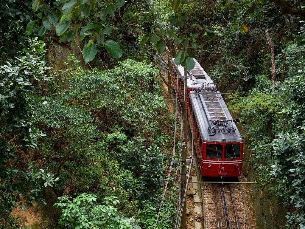
[[[3,0],[0,228],[175,227],[168,49],[232,93],[257,181],[305,228],[303,3]],[[22,224],[36,204],[41,224]]]

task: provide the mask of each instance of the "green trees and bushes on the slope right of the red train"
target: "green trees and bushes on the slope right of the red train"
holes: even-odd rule
[[[294,67],[292,64],[290,66]],[[300,76],[292,76],[284,83],[278,83],[273,94],[269,94],[266,76],[257,75],[257,88],[249,91],[245,97],[233,95],[228,104],[231,110],[239,110],[242,115],[251,140],[251,162],[256,166],[258,180],[267,184],[271,198],[276,196],[286,206],[293,207],[286,216],[287,228],[304,226],[303,60],[301,67]],[[291,71],[289,74],[295,73]]]

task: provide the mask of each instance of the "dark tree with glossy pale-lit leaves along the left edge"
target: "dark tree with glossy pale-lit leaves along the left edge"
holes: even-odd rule
[[[50,79],[46,76],[45,43],[33,38],[23,45],[13,60],[0,67],[0,223],[4,228],[18,227],[18,220],[9,214],[19,206],[25,209],[22,198],[27,205],[32,200],[45,204],[42,191],[59,179],[48,168],[26,168],[20,156],[16,157],[29,147],[37,151],[38,140],[45,136],[36,127],[32,111],[34,104],[42,101],[36,94],[40,83]]]

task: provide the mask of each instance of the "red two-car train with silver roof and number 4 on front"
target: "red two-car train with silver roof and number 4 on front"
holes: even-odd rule
[[[184,67],[171,59],[171,80],[183,106]],[[242,172],[242,136],[217,84],[199,62],[186,72],[187,116],[202,176],[237,177]]]

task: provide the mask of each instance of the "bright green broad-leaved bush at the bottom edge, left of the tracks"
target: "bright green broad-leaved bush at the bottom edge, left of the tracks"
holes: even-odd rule
[[[141,229],[134,218],[120,216],[114,207],[120,201],[115,196],[104,198],[102,205],[97,205],[95,194],[83,193],[72,201],[70,196],[59,197],[54,206],[62,209],[59,224],[63,228],[126,228]]]

